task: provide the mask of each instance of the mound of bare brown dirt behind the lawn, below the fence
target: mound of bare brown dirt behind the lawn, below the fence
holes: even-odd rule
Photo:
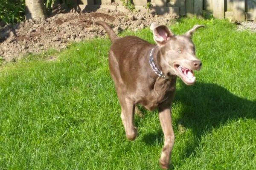
[[[29,53],[39,53],[49,48],[61,50],[70,42],[105,37],[103,28],[95,24],[97,20],[106,21],[118,32],[127,28],[146,28],[152,22],[166,25],[173,18],[169,15],[122,13],[109,9],[90,13],[58,13],[45,20],[29,20],[0,28],[0,57],[6,62],[13,62]]]

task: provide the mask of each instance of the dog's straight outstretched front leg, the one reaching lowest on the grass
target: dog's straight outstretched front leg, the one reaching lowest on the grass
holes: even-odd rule
[[[172,147],[174,145],[174,132],[172,128],[172,111],[170,107],[159,108],[159,119],[164,134],[164,147],[160,157],[160,165],[163,169],[169,167]]]

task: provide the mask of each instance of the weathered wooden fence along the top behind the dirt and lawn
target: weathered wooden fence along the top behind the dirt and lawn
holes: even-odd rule
[[[84,6],[124,10],[122,0],[58,0],[60,3],[74,3]],[[169,13],[176,16],[203,16],[212,14],[215,18],[244,21],[256,20],[256,0],[132,0],[138,11]],[[150,3],[152,8],[145,6]],[[143,7],[144,6],[144,7]]]

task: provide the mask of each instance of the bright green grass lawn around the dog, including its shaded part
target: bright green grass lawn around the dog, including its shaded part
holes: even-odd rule
[[[193,36],[203,68],[197,82],[179,79],[172,105],[175,170],[256,167],[255,33],[224,20],[182,19],[171,26]],[[153,42],[149,29],[137,35]],[[130,142],[108,70],[110,41],[75,43],[0,68],[0,170],[157,170],[163,133],[157,112],[135,117]],[[57,61],[47,58],[55,56]],[[185,133],[179,133],[182,121]]]

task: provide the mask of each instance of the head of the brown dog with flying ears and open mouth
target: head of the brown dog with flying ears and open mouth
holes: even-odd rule
[[[195,25],[183,35],[174,35],[166,26],[152,23],[150,29],[154,34],[154,41],[161,54],[161,67],[163,72],[177,75],[187,85],[195,83],[193,71],[199,71],[202,62],[195,56],[195,45],[192,34],[203,25]]]

